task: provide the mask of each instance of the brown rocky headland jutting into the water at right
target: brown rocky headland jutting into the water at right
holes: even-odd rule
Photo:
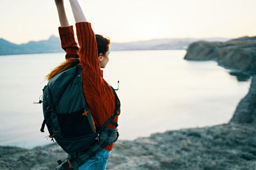
[[[227,42],[198,41],[189,45],[186,60],[216,60],[220,66],[256,73],[256,36]]]

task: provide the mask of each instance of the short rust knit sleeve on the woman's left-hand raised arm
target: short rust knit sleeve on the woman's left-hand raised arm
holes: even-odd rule
[[[73,26],[59,27],[59,34],[61,40],[61,48],[66,52],[66,59],[69,57],[79,58],[79,48],[77,46]]]

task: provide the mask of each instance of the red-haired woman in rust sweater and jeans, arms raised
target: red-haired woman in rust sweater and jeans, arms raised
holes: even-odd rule
[[[95,126],[99,128],[115,111],[115,94],[102,77],[102,70],[100,70],[100,67],[104,68],[108,64],[110,42],[107,38],[95,36],[78,1],[69,1],[76,20],[77,39],[80,48],[75,41],[73,27],[68,24],[63,0],[55,0],[61,25],[59,27],[61,47],[66,52],[66,61],[53,69],[47,75],[47,79],[50,80],[61,71],[81,64],[84,97],[95,120]],[[113,121],[107,125],[107,128],[116,129],[115,122],[118,121],[118,117],[115,117]],[[83,165],[79,166],[79,169],[105,169],[112,148],[113,143],[84,162]]]

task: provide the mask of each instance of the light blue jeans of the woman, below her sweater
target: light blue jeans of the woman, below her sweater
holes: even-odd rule
[[[109,150],[102,149],[83,165],[79,166],[79,170],[105,170],[109,155]]]

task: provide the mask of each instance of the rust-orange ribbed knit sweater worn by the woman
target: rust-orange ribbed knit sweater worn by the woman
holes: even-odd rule
[[[79,22],[76,24],[78,48],[74,38],[73,26],[59,27],[61,47],[69,57],[80,57],[83,81],[83,92],[88,107],[92,113],[96,127],[102,126],[115,111],[115,94],[102,77],[100,61],[97,53],[97,42],[91,24]],[[114,121],[117,122],[118,117]],[[115,125],[108,124],[107,128],[115,129]],[[112,150],[113,143],[105,147]]]

